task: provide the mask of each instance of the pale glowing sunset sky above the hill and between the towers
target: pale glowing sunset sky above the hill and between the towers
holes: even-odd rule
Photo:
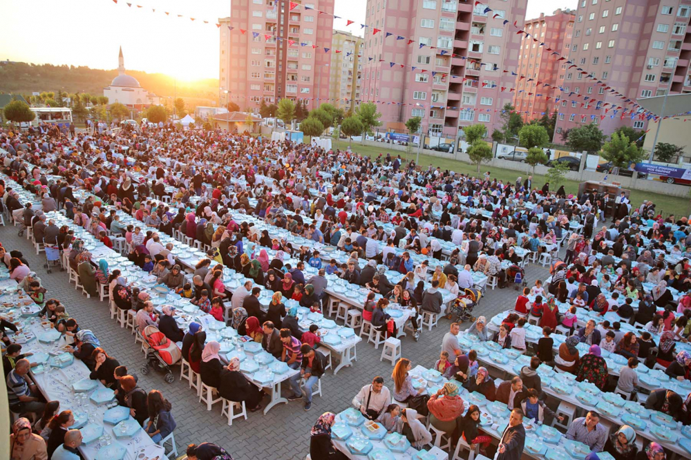
[[[229,0],[129,1],[131,8],[124,0],[117,4],[112,0],[2,1],[0,59],[112,69],[117,68],[117,51],[122,46],[126,68],[182,80],[218,78],[214,23],[229,16]],[[335,14],[356,23],[346,28],[345,19],[337,19],[334,28],[359,33],[365,6],[366,0],[336,0]],[[558,4],[529,0],[528,17],[550,14],[560,6],[575,8],[576,0]],[[164,11],[171,14],[166,16]],[[178,18],[178,14],[197,20]]]

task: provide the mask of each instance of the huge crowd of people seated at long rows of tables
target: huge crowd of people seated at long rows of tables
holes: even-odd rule
[[[659,363],[675,378],[690,378],[691,356],[683,350],[676,352],[674,347],[677,341],[686,340],[691,327],[691,296],[685,294],[691,287],[689,224],[686,218],[656,215],[650,202],[634,209],[624,194],[616,200],[606,193],[576,197],[563,187],[556,192],[549,186],[537,189],[531,177],[504,183],[489,174],[475,178],[431,165],[428,169],[415,168],[413,162],[406,166],[399,157],[389,155],[370,158],[350,149],[324,151],[317,146],[220,131],[158,128],[141,133],[75,133],[68,138],[35,128],[28,132],[1,130],[0,148],[7,152],[3,172],[35,193],[42,204],[41,210],[34,210],[31,203],[20,202],[17,191],[0,184],[3,207],[23,224],[22,231],[31,228],[35,240],[68,251],[70,267],[79,274],[85,291],[97,295],[99,285],[108,285],[117,308],[137,312],[140,329],[155,325],[171,341],[181,342],[182,357],[201,375],[203,383],[229,401],[245,401],[251,411],[261,409],[264,392],[242,376],[237,361],[222,363],[220,345],[207,343],[199,323],[191,323],[189,330],[182,331],[172,318],[172,307],[165,306],[160,315],[155,314],[146,291],[128,285],[120,270],[108,267],[106,260],[94,265],[82,241],[75,240],[68,227],[57,227],[46,213],[63,211],[106,247],[113,247],[113,237],[124,236],[129,260],[142,270],[190,298],[202,311],[218,320],[229,320],[238,333],[300,370],[290,379],[289,399],[302,400],[305,410],[310,410],[312,387],[323,374],[323,357],[315,350],[320,338],[315,334],[316,326],[301,330],[296,309],[285,307],[287,299],[321,312],[328,287],[325,275],[337,274],[370,291],[363,305],[363,319],[382,332],[395,334],[384,313],[387,303],[412,308],[411,327],[418,340],[419,312],[439,314],[444,309],[439,289],[463,296],[464,289],[473,287],[472,271],[496,277],[499,287],[505,287],[512,280],[501,262],[517,265],[520,258],[515,249],[549,251],[553,261],[559,262],[558,244],[564,242],[564,262],[553,267],[549,285],[536,282],[524,289],[515,313],[502,321],[499,332],[489,334],[484,317],[477,318],[468,332],[481,340],[498,342],[505,349],[535,354],[535,363],[531,361],[521,376],[495,387],[489,371],[478,365],[475,352],[462,351],[457,341],[454,345],[460,328],[453,323],[444,337],[442,356],[434,365],[451,381],[428,401],[421,403],[424,399],[411,385],[410,361],[406,359],[395,366],[392,395],[408,407],[392,407],[396,404],[382,378],[375,378],[372,385],[366,385],[369,390],[363,388],[361,397],[356,396],[354,405],[365,416],[406,435],[416,447],[431,439],[418,420],[418,415],[428,413],[430,423],[453,439],[463,437],[473,447],[489,448],[490,437],[478,428],[477,406],[464,411],[458,396],[462,386],[481,392],[491,401],[507,403],[511,416],[498,452],[503,459],[520,458],[523,417],[551,416],[536,374],[540,363],[556,365],[574,372],[579,381],[605,388],[607,367],[600,349],[606,349],[627,356],[628,369],[639,363],[651,367]],[[88,194],[82,195],[82,191]],[[142,223],[124,225],[119,213]],[[266,229],[243,220],[243,215],[263,220]],[[605,218],[611,218],[612,224],[598,225]],[[572,231],[574,224],[582,230]],[[272,229],[287,229],[292,236],[311,240],[312,247],[277,238]],[[194,267],[191,282],[184,278],[184,269],[173,256],[173,245],[161,244],[162,234],[187,238],[207,251],[208,258]],[[453,249],[446,254],[442,246],[448,244]],[[343,251],[350,258],[339,263],[319,250],[323,246]],[[665,259],[665,253],[674,263]],[[160,439],[175,428],[170,404],[160,392],[147,394],[138,389],[136,376],[108,356],[94,334],[80,329],[59,301],[46,298],[48,293],[21,253],[6,253],[0,248],[0,258],[10,269],[10,277],[21,282],[21,289],[44,309],[42,314],[73,342],[75,357],[93,371],[92,378],[117,388],[124,398],[122,403],[133,410],[142,426],[147,418],[151,420],[152,407],[158,411],[154,419],[164,426],[147,423],[152,438]],[[289,258],[298,260],[294,267],[286,262]],[[361,259],[368,262],[361,265]],[[305,265],[314,267],[317,274],[305,276]],[[250,281],[232,291],[227,289],[224,266]],[[385,274],[388,270],[398,271],[400,280],[389,280]],[[654,283],[653,289],[645,289],[648,282]],[[274,292],[267,309],[258,301],[262,289]],[[569,303],[569,312],[559,314],[557,303]],[[579,309],[603,315],[616,312],[622,321],[641,323],[643,331],[638,337],[623,334],[621,324],[607,320],[578,328]],[[525,340],[524,325],[531,316],[538,317],[545,335],[535,347]],[[559,326],[572,335],[554,356],[550,334]],[[654,342],[656,336],[660,336],[659,344]],[[3,341],[9,349],[11,334],[3,336]],[[576,349],[580,342],[590,345],[584,356]],[[10,375],[18,391],[16,403],[22,405],[22,412],[37,414],[42,420],[44,410],[54,407],[50,404],[54,401],[44,404],[19,398],[20,394],[34,397],[30,396],[30,359],[18,358],[21,349],[12,349],[6,358],[14,363]],[[625,371],[621,371],[617,385],[622,389],[635,387],[636,374]],[[301,380],[305,381],[302,386]],[[368,398],[363,397],[363,391],[368,392]],[[652,400],[649,397],[646,405],[659,405],[663,412],[674,412],[676,419],[686,421],[688,396],[684,399],[669,393],[654,392],[656,396]],[[417,404],[411,407],[410,399]],[[26,410],[26,404],[33,410]],[[162,412],[167,415],[156,417]],[[58,409],[50,413],[50,420],[56,416],[61,416]],[[69,423],[68,419],[64,423]],[[605,449],[611,439],[591,434],[601,431],[598,419],[595,412],[589,412],[584,420],[576,419],[567,437],[579,441],[597,438],[597,443],[588,444],[594,452]],[[314,426],[315,452],[338,456],[339,452],[325,441],[333,423],[333,414],[327,413]],[[41,425],[41,430],[35,424],[30,428],[39,434],[43,431]],[[64,428],[68,433],[69,425]],[[613,441],[617,452],[621,443],[630,443],[625,428]],[[17,442],[22,437],[26,438],[15,432]],[[73,438],[70,445],[77,442]],[[67,443],[66,439],[60,441]],[[188,457],[205,458],[200,454],[207,450],[202,445],[188,450]],[[313,454],[312,458],[328,457]]]

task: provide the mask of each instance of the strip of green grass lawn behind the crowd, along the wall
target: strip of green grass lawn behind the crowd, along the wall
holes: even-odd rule
[[[339,140],[336,142],[337,148],[341,150],[348,148],[347,140]],[[386,156],[386,153],[390,153],[391,156],[401,155],[404,160],[415,160],[415,149],[412,155],[406,154],[405,151],[397,151],[384,146],[368,146],[360,145],[357,142],[353,142],[351,145],[351,150],[361,155],[368,155],[370,157],[377,157],[379,153]],[[433,166],[439,166],[441,169],[448,169],[449,171],[455,171],[457,173],[466,173],[470,175],[477,175],[477,167],[474,164],[469,164],[461,162],[459,160],[451,160],[448,158],[433,157],[431,155],[420,155],[419,164],[421,166],[428,166],[433,164]],[[481,173],[484,171],[490,171],[493,178],[497,178],[504,182],[515,182],[518,177],[519,171],[511,171],[511,169],[497,168],[494,166],[480,166]],[[525,174],[520,173],[524,178]],[[533,175],[533,186],[538,188],[542,187],[543,184],[547,182],[544,175]],[[578,185],[580,182],[576,180],[565,180],[564,189],[567,193],[578,193]],[[691,187],[689,187],[691,193]],[[675,215],[688,215],[691,212],[691,198],[679,198],[669,195],[664,195],[662,193],[650,193],[640,190],[632,190],[630,199],[635,207],[638,207],[643,200],[652,200],[656,204],[656,209],[665,215],[675,214]]]

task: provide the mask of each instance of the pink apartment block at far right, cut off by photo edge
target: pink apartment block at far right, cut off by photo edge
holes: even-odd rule
[[[621,116],[610,104],[631,108],[609,88],[632,100],[691,91],[689,0],[578,0],[574,37],[567,55],[576,68],[560,64],[564,90],[555,138],[596,122],[609,135],[620,126],[644,129],[647,119]],[[560,75],[560,78],[562,75]],[[595,99],[591,102],[590,99]]]

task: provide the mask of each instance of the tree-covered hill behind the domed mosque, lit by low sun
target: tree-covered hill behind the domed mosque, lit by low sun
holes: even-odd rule
[[[176,94],[176,83],[172,77],[161,73],[146,73],[127,70],[146,90],[162,98]],[[12,62],[0,64],[0,93],[20,93],[63,90],[66,93],[89,93],[103,95],[103,88],[111,84],[117,70],[102,70],[88,67],[53,66],[52,64],[27,64]],[[185,99],[189,106],[216,105],[218,102],[218,79],[202,79],[194,82],[179,82],[177,96]],[[171,99],[172,101],[172,99]]]

